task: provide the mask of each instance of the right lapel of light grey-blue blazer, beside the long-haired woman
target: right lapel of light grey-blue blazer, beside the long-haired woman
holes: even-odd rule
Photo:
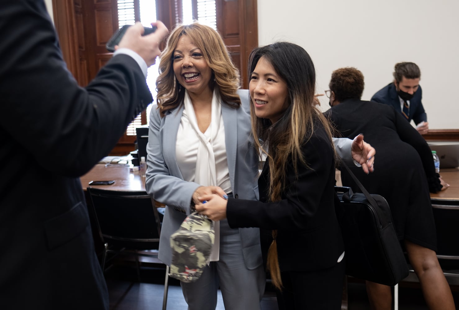
[[[230,108],[228,105],[223,103],[222,115],[223,123],[225,126],[225,146],[229,169],[229,180],[231,182],[231,188],[234,191],[234,176],[236,172],[237,153],[237,109]]]

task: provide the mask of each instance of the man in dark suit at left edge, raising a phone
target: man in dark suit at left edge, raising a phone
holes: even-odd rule
[[[79,176],[148,103],[162,22],[130,27],[87,87],[67,71],[43,0],[0,4],[0,307],[108,309]]]

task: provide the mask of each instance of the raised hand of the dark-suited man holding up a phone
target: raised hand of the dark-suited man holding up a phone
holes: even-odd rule
[[[157,56],[161,54],[159,44],[168,34],[168,28],[160,21],[152,22],[151,25],[157,27],[156,31],[142,36],[145,32],[144,27],[140,22],[136,22],[135,25],[126,30],[126,33],[119,45],[115,46],[115,49],[132,49],[145,60],[147,66],[153,65]]]

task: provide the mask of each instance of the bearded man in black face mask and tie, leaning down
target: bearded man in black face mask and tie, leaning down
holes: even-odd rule
[[[414,120],[416,130],[424,135],[429,123],[421,102],[421,71],[413,62],[400,62],[394,69],[394,82],[376,92],[371,101],[391,105],[409,122]]]

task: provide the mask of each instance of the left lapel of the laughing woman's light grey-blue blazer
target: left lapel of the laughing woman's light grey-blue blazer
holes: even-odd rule
[[[177,133],[179,131],[180,120],[182,118],[184,105],[181,104],[178,109],[174,109],[164,117],[164,126],[162,128],[162,149],[164,162],[168,166],[170,175],[183,179],[180,172],[177,158],[175,158],[175,146],[177,143]]]

